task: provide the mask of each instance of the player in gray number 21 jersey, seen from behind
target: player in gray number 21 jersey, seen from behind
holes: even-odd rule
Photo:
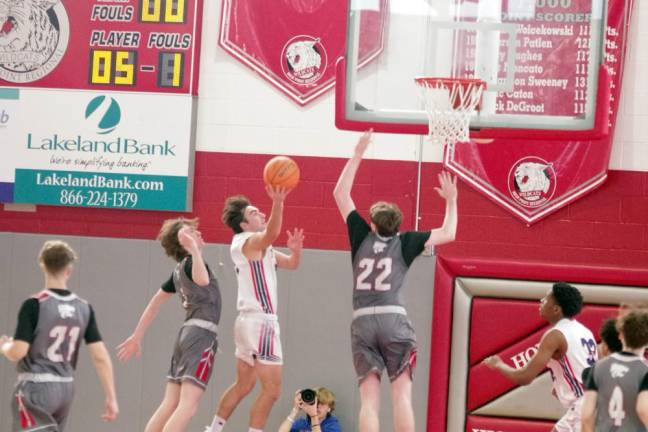
[[[62,241],[47,241],[39,255],[45,290],[27,299],[18,313],[13,338],[0,337],[0,352],[17,362],[12,397],[14,432],[61,432],[74,395],[74,370],[83,338],[106,394],[102,418],[119,411],[112,363],[94,311],[67,289],[76,254]]]

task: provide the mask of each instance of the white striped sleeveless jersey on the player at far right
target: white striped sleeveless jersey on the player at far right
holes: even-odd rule
[[[574,319],[563,318],[554,329],[565,336],[567,352],[560,360],[549,360],[547,367],[551,370],[556,397],[564,407],[571,407],[584,394],[583,369],[597,359],[596,339],[587,327]]]

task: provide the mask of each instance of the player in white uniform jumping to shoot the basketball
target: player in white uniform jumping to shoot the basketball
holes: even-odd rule
[[[240,195],[229,197],[223,209],[223,222],[234,231],[230,253],[238,281],[239,315],[234,323],[236,381],[223,394],[207,432],[223,430],[257,379],[261,392],[252,405],[249,431],[262,431],[281,392],[283,359],[276,315],[276,267],[294,270],[299,266],[304,236],[302,230],[288,232],[290,255],[272,248],[272,242],[281,233],[283,205],[289,191],[266,186],[266,192],[272,199],[267,222],[265,214]]]

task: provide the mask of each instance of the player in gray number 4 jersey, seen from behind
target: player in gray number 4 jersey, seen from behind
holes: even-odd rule
[[[623,351],[597,361],[585,382],[582,432],[648,430],[648,313],[636,310],[618,318]]]

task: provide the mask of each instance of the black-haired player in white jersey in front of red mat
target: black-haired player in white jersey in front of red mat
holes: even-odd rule
[[[592,332],[574,317],[583,307],[583,297],[576,288],[558,282],[540,300],[540,316],[553,325],[540,340],[538,352],[523,367],[515,369],[491,356],[484,363],[519,385],[531,383],[545,368],[551,371],[554,394],[566,408],[555,424],[554,432],[579,432],[583,400],[583,370],[597,359]]]

